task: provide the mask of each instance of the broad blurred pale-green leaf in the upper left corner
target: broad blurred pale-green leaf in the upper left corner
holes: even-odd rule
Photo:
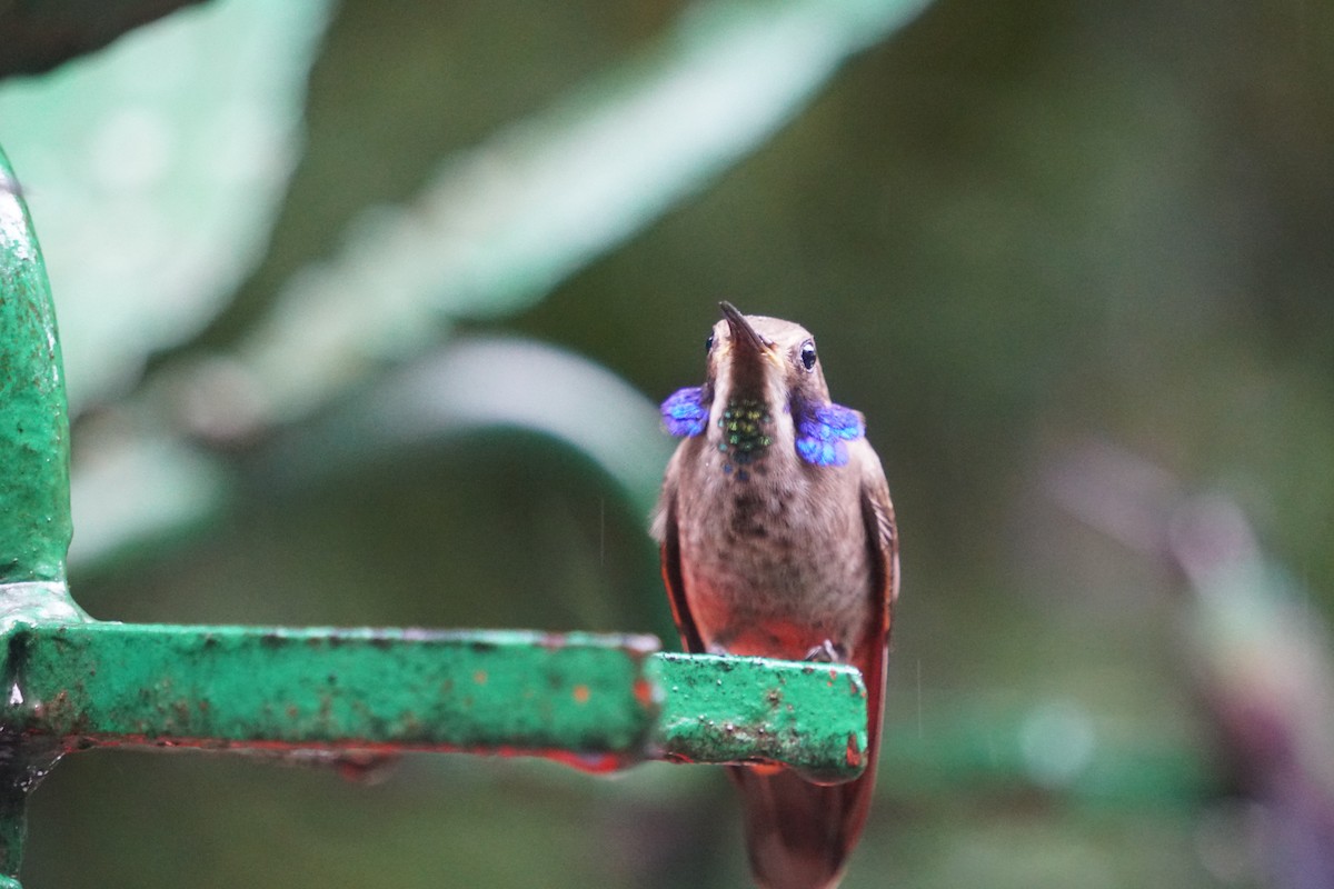
[[[224,0],[0,87],[75,413],[204,324],[257,261],[328,9]]]

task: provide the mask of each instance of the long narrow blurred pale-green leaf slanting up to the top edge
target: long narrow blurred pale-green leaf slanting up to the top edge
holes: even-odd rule
[[[452,319],[542,299],[763,144],[920,5],[702,3],[640,57],[446,159],[412,203],[356,220],[240,344],[269,416],[309,411]]]

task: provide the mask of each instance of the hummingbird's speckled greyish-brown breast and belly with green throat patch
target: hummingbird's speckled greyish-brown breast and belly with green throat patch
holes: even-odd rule
[[[872,612],[858,472],[800,461],[762,405],[728,405],[722,419],[687,443],[696,453],[682,454],[678,502],[684,592],[706,645],[851,650]]]

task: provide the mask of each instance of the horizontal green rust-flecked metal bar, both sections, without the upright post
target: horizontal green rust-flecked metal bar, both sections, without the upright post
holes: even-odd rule
[[[658,654],[647,636],[76,624],[8,637],[7,721],[69,749],[420,749],[862,770],[846,666]]]

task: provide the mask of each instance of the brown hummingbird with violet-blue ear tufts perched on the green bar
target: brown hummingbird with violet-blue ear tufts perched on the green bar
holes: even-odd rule
[[[860,777],[820,784],[780,765],[730,766],[755,881],[832,889],[875,785],[899,586],[894,506],[864,417],[831,401],[810,332],[720,308],[704,344],[704,384],[662,404],[682,443],[652,533],[687,650],[860,669]]]

